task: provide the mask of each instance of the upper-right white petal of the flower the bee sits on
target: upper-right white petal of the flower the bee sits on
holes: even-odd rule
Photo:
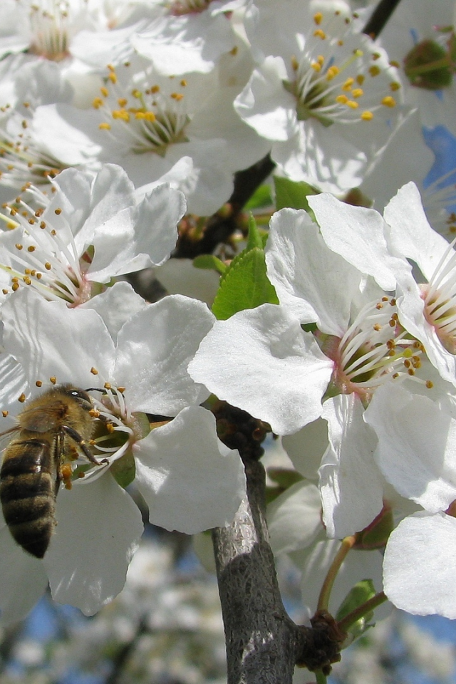
[[[118,336],[116,379],[126,387],[131,410],[176,415],[207,399],[208,391],[190,378],[187,366],[213,321],[201,301],[172,295],[125,323]],[[133,358],[140,363],[132,367]]]

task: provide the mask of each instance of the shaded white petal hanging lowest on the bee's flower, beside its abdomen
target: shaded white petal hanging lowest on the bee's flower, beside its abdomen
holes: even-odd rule
[[[138,507],[108,473],[57,498],[44,564],[53,598],[93,615],[123,589],[142,534]]]

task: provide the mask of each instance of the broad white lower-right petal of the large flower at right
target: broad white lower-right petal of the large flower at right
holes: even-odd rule
[[[456,420],[431,398],[389,383],[365,413],[378,436],[375,458],[385,478],[435,513],[456,499]]]

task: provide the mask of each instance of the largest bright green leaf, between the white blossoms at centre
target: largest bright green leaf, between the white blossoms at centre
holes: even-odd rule
[[[259,247],[238,254],[224,274],[212,305],[219,321],[260,304],[279,304],[274,286],[266,276],[264,250]]]

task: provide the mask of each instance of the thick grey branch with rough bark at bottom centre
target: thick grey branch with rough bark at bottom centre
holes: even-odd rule
[[[281,601],[264,517],[264,468],[246,467],[247,499],[214,529],[228,684],[291,684],[300,632]]]

